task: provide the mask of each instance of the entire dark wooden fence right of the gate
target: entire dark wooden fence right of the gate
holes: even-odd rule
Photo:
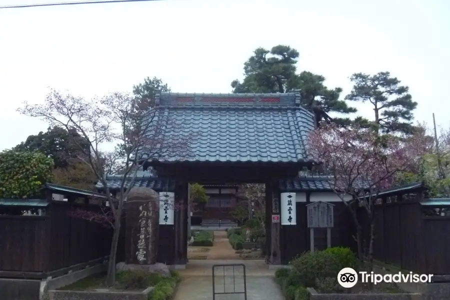
[[[363,227],[367,245],[368,224]],[[443,275],[450,274],[448,253],[450,217],[425,216],[418,201],[375,206],[374,259],[417,273]]]

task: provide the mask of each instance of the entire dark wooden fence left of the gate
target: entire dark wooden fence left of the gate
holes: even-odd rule
[[[80,205],[52,201],[45,216],[0,215],[0,277],[55,276],[108,256],[112,229],[71,216]]]

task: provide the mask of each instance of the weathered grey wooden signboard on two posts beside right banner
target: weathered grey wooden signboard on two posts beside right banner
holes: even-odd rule
[[[331,247],[331,228],[334,226],[334,204],[312,202],[306,205],[306,218],[310,231],[310,250],[314,251],[314,228],[326,228],[326,244]]]

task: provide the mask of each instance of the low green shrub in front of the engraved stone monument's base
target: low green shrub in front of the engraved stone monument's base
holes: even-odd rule
[[[159,283],[163,278],[157,273],[148,273],[144,270],[120,271],[116,274],[116,285],[121,289],[145,289]]]

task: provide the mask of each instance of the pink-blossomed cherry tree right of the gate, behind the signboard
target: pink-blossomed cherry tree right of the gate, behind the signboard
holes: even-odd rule
[[[372,268],[374,232],[374,204],[382,189],[391,187],[395,175],[410,171],[420,163],[432,147],[423,127],[417,127],[409,137],[379,135],[370,128],[353,125],[339,128],[324,124],[309,134],[308,151],[315,161],[323,164],[330,175],[332,190],[349,208],[356,225],[358,258],[368,261]],[[351,195],[353,201],[348,201]],[[362,226],[356,207],[363,208],[370,224],[368,253],[364,257]]]

